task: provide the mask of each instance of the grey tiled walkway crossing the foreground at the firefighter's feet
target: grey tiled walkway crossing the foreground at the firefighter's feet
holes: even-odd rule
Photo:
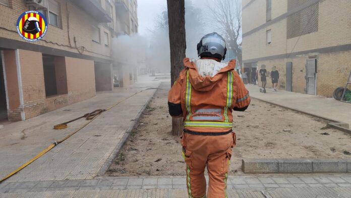
[[[107,177],[11,182],[0,184],[0,197],[184,198],[185,181],[183,177]],[[351,197],[351,175],[229,176],[227,184],[228,197]]]

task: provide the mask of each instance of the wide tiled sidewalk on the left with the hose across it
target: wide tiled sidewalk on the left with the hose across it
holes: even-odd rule
[[[145,90],[102,113],[85,128],[5,182],[92,179],[100,170],[104,173],[103,169],[108,168],[105,162],[113,160],[112,154],[124,143],[126,132],[132,129],[158,85],[159,81],[143,82],[127,88],[98,92],[89,100],[5,125],[5,128],[0,129],[0,177],[17,169],[49,144],[64,138],[87,121],[80,119],[62,130],[52,129],[53,125],[96,109],[105,109]]]

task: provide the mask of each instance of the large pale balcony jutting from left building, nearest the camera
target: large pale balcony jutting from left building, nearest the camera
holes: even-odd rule
[[[112,21],[111,17],[96,0],[74,0],[71,2],[92,16],[97,22],[108,23]]]

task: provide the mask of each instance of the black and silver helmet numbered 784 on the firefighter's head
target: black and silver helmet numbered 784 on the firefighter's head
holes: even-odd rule
[[[214,57],[224,60],[226,46],[224,38],[217,32],[206,34],[197,45],[199,57]]]

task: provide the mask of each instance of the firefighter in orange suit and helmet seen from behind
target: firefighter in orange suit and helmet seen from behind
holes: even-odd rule
[[[250,96],[239,74],[236,60],[225,58],[225,40],[216,32],[197,45],[199,60],[184,59],[185,68],[168,93],[169,114],[184,118],[182,154],[187,164],[189,197],[227,197],[226,181],[231,148],[236,145],[232,111],[245,111]]]

